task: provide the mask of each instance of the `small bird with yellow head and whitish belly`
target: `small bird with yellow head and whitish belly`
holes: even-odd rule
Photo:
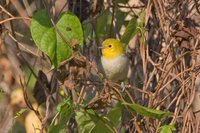
[[[101,71],[108,80],[121,82],[127,78],[129,59],[123,43],[115,38],[103,41],[101,49]]]

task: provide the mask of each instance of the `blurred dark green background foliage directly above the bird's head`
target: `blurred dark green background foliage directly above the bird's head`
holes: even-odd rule
[[[120,0],[125,2],[126,0]],[[101,12],[99,17],[96,19],[96,23],[94,26],[95,31],[92,32],[93,26],[90,23],[84,23],[84,35],[87,39],[94,39],[95,37],[98,39],[106,39],[110,37],[115,37],[116,34],[119,34],[122,26],[126,26],[128,21],[125,20],[127,16],[127,12],[123,12],[116,8],[116,23],[112,25],[112,12],[106,9]],[[112,26],[112,27],[111,27]]]

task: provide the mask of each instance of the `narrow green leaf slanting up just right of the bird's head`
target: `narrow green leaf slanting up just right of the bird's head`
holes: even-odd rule
[[[132,18],[128,23],[124,34],[121,37],[121,42],[128,45],[129,41],[136,35],[137,33],[137,18]]]

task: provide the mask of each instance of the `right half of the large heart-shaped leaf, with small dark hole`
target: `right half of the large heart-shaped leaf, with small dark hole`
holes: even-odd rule
[[[56,24],[57,34],[57,62],[68,59],[71,56],[72,49],[69,47],[73,40],[83,43],[83,31],[79,19],[72,13],[63,13]]]

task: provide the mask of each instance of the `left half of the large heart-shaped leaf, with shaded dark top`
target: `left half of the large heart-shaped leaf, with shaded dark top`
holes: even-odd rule
[[[46,11],[41,10],[34,14],[31,21],[31,35],[38,48],[52,59],[56,34]]]

